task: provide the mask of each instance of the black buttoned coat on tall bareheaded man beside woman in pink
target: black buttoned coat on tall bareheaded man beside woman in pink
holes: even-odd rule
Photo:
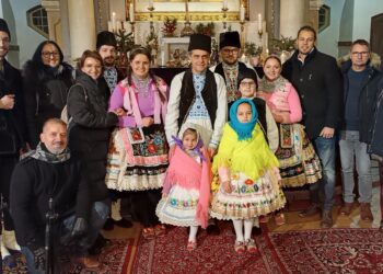
[[[340,70],[334,57],[314,48],[302,65],[297,50],[283,64],[282,76],[298,91],[303,124],[310,139],[318,137],[323,127],[336,129],[339,126],[343,85]]]

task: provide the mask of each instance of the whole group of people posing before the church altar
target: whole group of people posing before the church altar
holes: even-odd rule
[[[274,215],[286,222],[282,189],[309,184],[312,203],[300,216],[321,212],[321,227],[329,228],[337,129],[340,214],[355,206],[355,156],[361,219],[372,220],[369,153],[382,157],[374,121],[383,77],[365,41],[352,43],[339,70],[315,47],[315,30],[303,26],[292,57],[267,57],[259,79],[239,61],[237,32],[220,34],[222,62],[211,68],[211,38],[193,34],[190,67],[169,87],[150,70],[143,47],[129,53],[121,73],[109,32],[97,35],[97,50],[85,50],[76,70],[55,42],[43,42],[23,76],[4,59],[10,38],[1,19],[1,253],[9,260],[8,249],[21,249],[31,273],[44,273],[57,255],[44,249],[47,225],[51,246],[74,244],[77,260],[97,267],[90,253],[105,244],[100,230],[131,226],[123,210],[147,239],[164,235],[165,224],[189,227],[189,251],[199,226],[217,233],[214,219],[231,220],[235,252],[254,253],[258,221]]]

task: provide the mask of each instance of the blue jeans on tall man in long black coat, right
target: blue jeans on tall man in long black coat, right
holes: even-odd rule
[[[312,140],[315,151],[321,159],[323,178],[310,185],[312,203],[320,203],[320,193],[324,194],[323,209],[332,210],[335,189],[335,137],[316,137]]]

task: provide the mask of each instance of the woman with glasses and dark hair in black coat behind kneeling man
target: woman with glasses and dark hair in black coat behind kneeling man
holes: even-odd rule
[[[47,118],[60,117],[73,83],[72,67],[54,41],[40,43],[23,69],[23,89],[30,145],[35,148]]]

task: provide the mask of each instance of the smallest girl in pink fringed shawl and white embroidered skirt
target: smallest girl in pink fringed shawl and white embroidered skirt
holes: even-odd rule
[[[182,139],[173,137],[176,144],[167,169],[162,199],[156,207],[161,222],[190,227],[187,250],[197,248],[198,226],[207,227],[210,182],[212,179],[210,158],[198,132],[197,125],[185,124],[179,133]],[[187,168],[185,168],[187,167]]]

